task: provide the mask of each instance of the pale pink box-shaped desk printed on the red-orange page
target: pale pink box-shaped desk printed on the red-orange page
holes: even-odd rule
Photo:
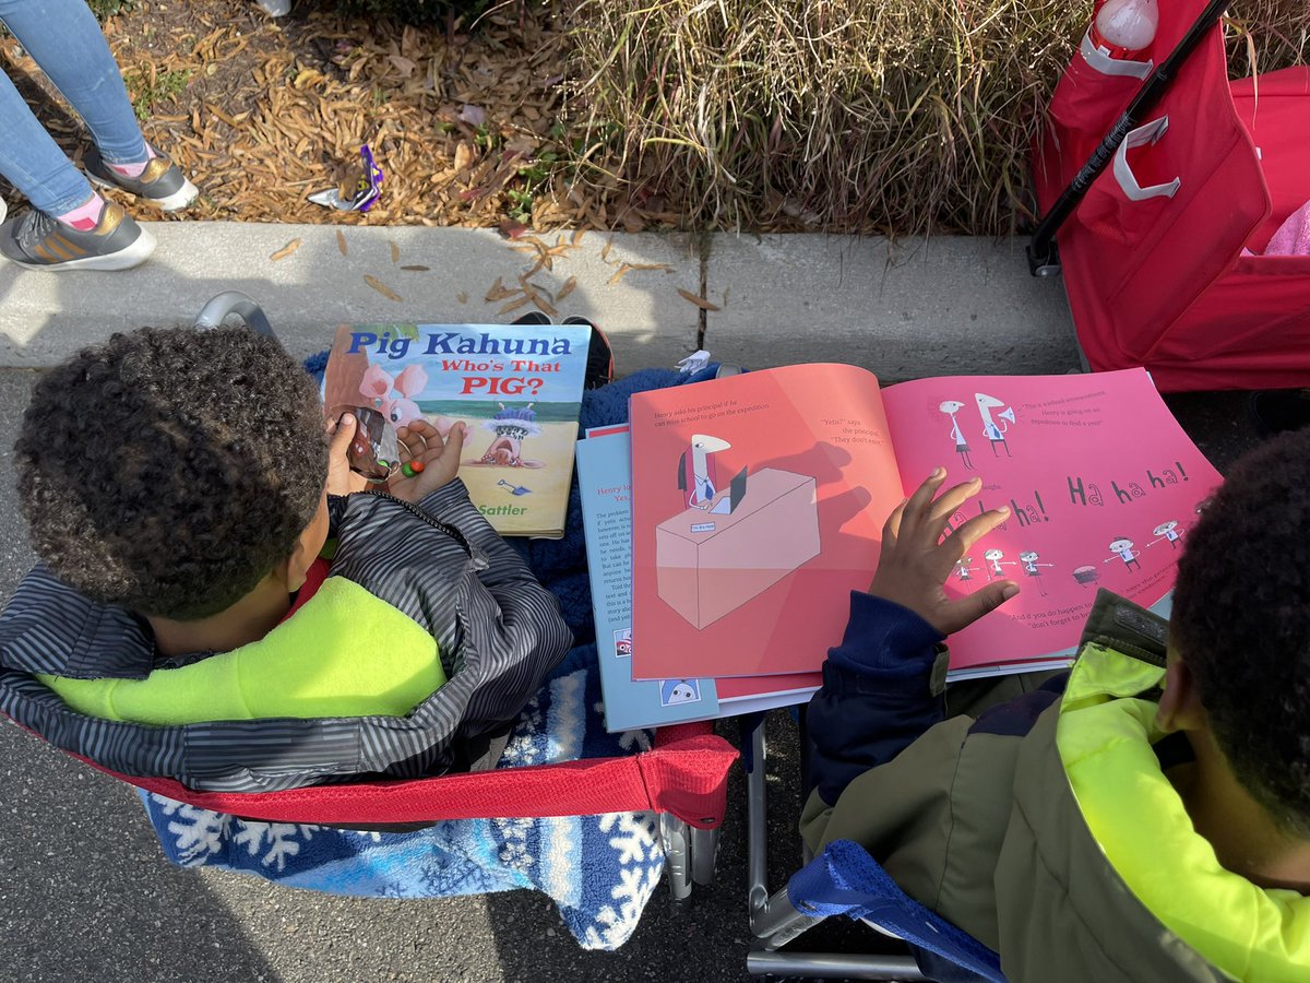
[[[714,503],[728,494],[720,492]],[[816,556],[815,480],[776,468],[749,476],[731,514],[686,509],[655,527],[659,596],[698,629]]]

